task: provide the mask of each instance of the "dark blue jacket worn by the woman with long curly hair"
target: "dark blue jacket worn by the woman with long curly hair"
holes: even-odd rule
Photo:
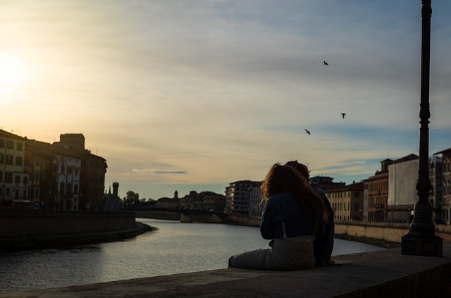
[[[260,232],[268,240],[314,235],[315,222],[308,206],[301,209],[290,193],[280,192],[266,202]]]

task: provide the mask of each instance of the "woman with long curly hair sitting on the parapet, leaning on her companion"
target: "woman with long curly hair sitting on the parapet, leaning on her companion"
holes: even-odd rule
[[[315,190],[291,166],[274,164],[261,185],[260,232],[268,249],[230,256],[229,268],[296,270],[315,266],[313,241],[329,212]]]

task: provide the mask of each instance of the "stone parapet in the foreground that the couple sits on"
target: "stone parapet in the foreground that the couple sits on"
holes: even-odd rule
[[[451,242],[443,244],[443,257],[403,256],[396,248],[334,259],[339,266],[299,271],[225,268],[0,297],[451,297]]]

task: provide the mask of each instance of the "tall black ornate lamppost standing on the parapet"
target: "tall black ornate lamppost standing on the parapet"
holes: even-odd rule
[[[407,235],[402,236],[401,254],[416,256],[442,256],[443,239],[435,234],[432,206],[428,202],[431,192],[429,179],[429,67],[431,47],[431,0],[421,0],[421,101],[420,148],[416,190],[419,200],[414,207],[414,219]]]

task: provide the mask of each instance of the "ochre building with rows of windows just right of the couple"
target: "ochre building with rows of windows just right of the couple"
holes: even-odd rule
[[[335,221],[363,220],[364,182],[354,182],[324,193],[332,206]]]

